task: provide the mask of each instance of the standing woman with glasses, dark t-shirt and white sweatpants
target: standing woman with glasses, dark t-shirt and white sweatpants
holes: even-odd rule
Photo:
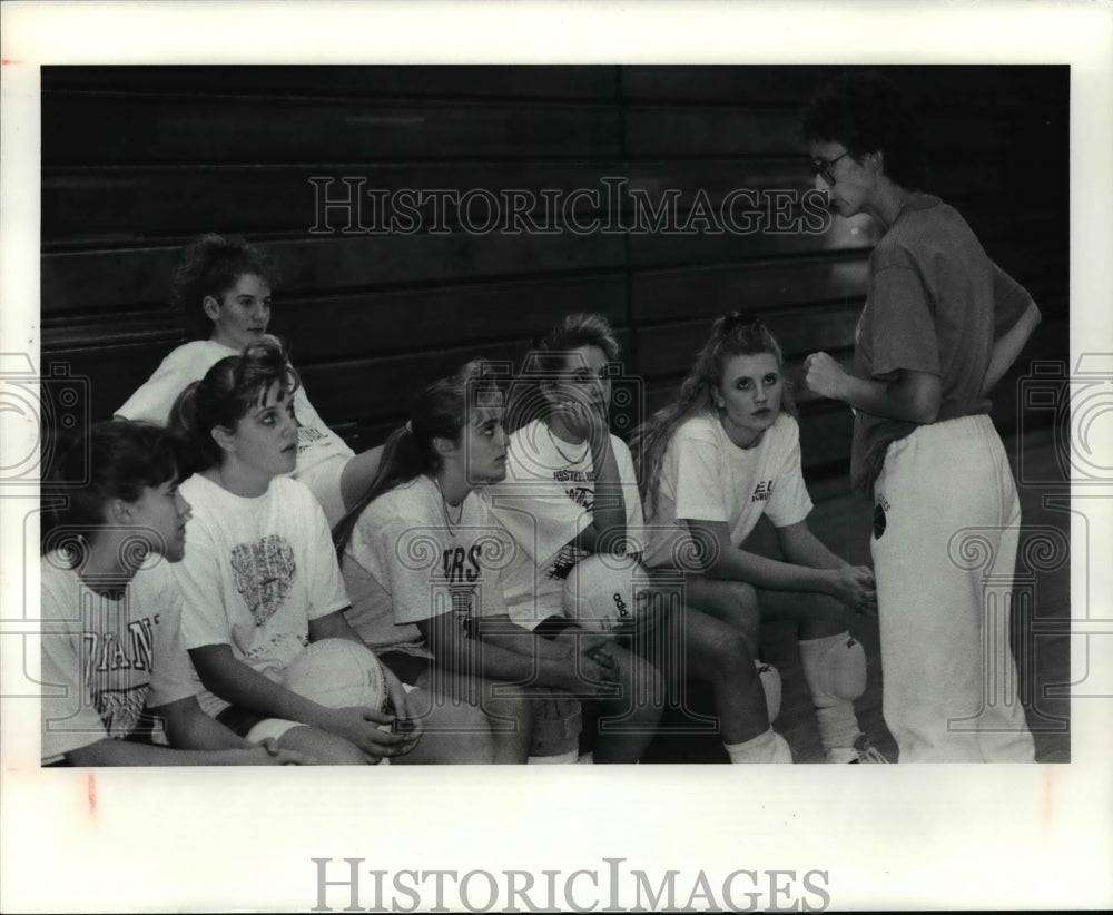
[[[902,762],[1032,761],[1007,613],[986,612],[983,582],[1012,578],[1021,523],[986,395],[1040,309],[958,213],[919,190],[918,125],[888,79],[839,79],[802,134],[831,207],[885,229],[851,371],[815,353],[807,384],[855,411],[850,479],[875,502],[886,724]],[[971,529],[991,541],[989,569],[952,559]]]

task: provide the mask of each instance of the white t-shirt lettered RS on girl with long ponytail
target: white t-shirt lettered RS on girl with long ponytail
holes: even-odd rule
[[[474,492],[446,509],[436,484],[418,476],[378,496],[352,532],[341,563],[348,622],[376,650],[429,657],[414,651],[422,643],[417,621],[453,612],[465,626],[473,617],[505,616],[508,557],[505,532]]]

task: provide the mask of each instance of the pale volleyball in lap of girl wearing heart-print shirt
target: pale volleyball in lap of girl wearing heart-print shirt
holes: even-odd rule
[[[283,675],[283,686],[326,708],[386,705],[386,678],[374,652],[348,639],[313,642]]]

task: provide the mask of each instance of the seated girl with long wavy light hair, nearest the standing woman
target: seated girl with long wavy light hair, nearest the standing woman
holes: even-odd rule
[[[646,563],[682,571],[688,603],[743,632],[754,653],[762,618],[795,620],[826,761],[885,762],[858,727],[866,655],[847,631],[847,609],[874,607],[873,574],[808,528],[800,430],[780,370],[760,321],[725,315],[673,401],[634,432]],[[762,514],[786,562],[743,549]]]

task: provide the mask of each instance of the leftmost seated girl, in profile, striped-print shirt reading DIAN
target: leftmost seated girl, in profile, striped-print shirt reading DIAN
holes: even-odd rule
[[[95,425],[62,459],[58,482],[67,502],[42,541],[42,764],[312,761],[273,740],[248,742],[197,704],[169,572],[189,518],[169,435]]]

